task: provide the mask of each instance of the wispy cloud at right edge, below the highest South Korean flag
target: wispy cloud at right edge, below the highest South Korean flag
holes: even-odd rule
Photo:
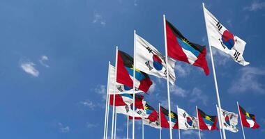
[[[249,91],[264,94],[264,85],[259,83],[261,76],[265,76],[265,70],[257,67],[242,67],[237,77],[235,76],[234,81],[232,81],[228,92],[236,94]]]

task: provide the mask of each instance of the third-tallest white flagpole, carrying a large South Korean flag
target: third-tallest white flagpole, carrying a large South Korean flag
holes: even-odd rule
[[[133,106],[132,106],[132,139],[135,139],[135,54],[136,54],[136,49],[135,49],[135,34],[136,31],[133,31]]]

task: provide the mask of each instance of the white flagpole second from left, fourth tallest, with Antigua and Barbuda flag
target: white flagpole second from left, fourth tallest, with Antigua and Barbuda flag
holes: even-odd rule
[[[115,97],[116,97],[116,76],[117,76],[117,60],[118,60],[118,47],[116,47],[116,59],[115,59],[115,77],[114,77],[114,92],[113,92],[113,106],[112,106],[112,138],[113,139],[113,133],[114,133],[114,113],[115,113]]]

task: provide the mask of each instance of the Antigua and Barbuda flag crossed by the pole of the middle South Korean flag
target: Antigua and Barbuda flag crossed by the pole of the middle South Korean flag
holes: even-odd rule
[[[123,51],[118,51],[116,81],[126,86],[127,90],[133,88],[133,58]],[[147,92],[153,84],[149,75],[135,69],[135,90]]]

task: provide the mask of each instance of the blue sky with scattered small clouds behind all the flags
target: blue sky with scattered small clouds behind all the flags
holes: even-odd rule
[[[245,40],[242,67],[213,49],[222,108],[237,112],[236,101],[256,115],[262,126],[245,128],[246,138],[265,136],[264,76],[265,1],[204,1],[229,31]],[[151,0],[1,0],[0,1],[0,137],[102,138],[107,63],[114,64],[115,46],[132,56],[133,30],[165,54],[162,14],[192,42],[208,44],[202,1]],[[207,47],[208,49],[208,47]],[[209,50],[207,51],[209,54]],[[176,63],[176,105],[195,114],[198,106],[216,115],[215,88],[199,67]],[[145,95],[154,108],[166,106],[166,81],[151,76]],[[126,117],[118,115],[117,136],[126,137]],[[227,131],[227,138],[242,138]],[[141,137],[139,122],[136,137]],[[158,130],[145,126],[146,138]],[[169,130],[163,129],[163,138]],[[202,131],[218,138],[219,131]],[[177,138],[174,131],[174,138]],[[181,131],[197,138],[197,131]]]

